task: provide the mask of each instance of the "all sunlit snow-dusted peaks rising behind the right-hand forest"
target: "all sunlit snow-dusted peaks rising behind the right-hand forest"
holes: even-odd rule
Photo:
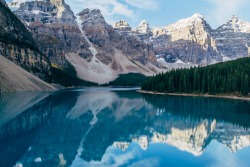
[[[250,23],[236,16],[217,29],[212,29],[204,16],[196,13],[165,27],[151,28],[143,20],[136,29],[124,31],[116,27],[116,30],[152,44],[158,66],[168,69],[209,65],[247,57],[250,53]]]

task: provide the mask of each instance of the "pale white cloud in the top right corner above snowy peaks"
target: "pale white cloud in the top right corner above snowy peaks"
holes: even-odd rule
[[[215,25],[221,25],[233,15],[237,15],[242,7],[249,0],[206,0],[214,7],[209,13],[209,19],[213,20]]]

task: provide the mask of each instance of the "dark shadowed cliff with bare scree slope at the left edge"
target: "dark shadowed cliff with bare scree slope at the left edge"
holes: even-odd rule
[[[54,89],[44,82],[51,80],[49,60],[4,1],[0,2],[0,59],[1,91]]]

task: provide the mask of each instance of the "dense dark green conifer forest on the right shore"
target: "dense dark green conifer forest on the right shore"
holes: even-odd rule
[[[171,70],[149,78],[142,90],[165,93],[235,94],[248,96],[250,58],[206,67]]]

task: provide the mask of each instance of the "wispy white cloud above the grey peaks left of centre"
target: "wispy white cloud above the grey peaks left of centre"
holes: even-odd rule
[[[100,9],[109,23],[114,23],[116,16],[130,19],[138,17],[138,9],[156,10],[157,0],[65,0],[75,13],[85,8]],[[116,20],[117,21],[117,20]]]

